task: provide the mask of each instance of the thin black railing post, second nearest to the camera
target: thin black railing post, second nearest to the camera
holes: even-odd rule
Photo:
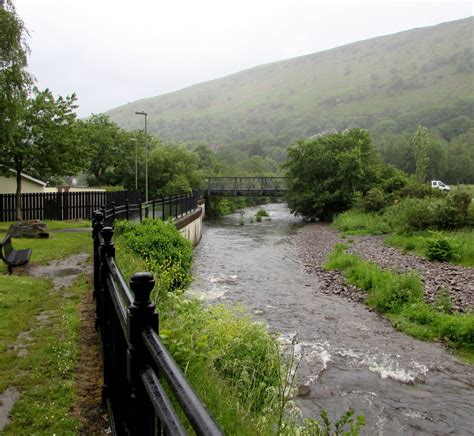
[[[115,246],[112,242],[114,231],[112,227],[104,227],[101,230],[102,243],[100,244],[100,290],[97,298],[97,308],[99,310],[99,331],[102,338],[104,380],[102,385],[102,402],[104,405],[111,397],[111,386],[114,378],[114,356],[113,356],[113,332],[110,319],[110,311],[114,310],[109,290],[107,288],[107,265],[108,257],[115,257]]]

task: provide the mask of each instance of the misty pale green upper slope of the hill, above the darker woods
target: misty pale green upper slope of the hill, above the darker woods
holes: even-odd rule
[[[473,18],[262,65],[112,109],[165,141],[286,146],[347,127],[377,137],[424,124],[451,140],[474,127]]]

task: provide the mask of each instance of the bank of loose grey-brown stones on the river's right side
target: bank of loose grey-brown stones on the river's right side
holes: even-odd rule
[[[308,272],[317,275],[321,292],[344,296],[352,301],[363,301],[365,293],[345,283],[337,271],[326,271],[322,265],[334,244],[345,242],[349,252],[397,272],[416,271],[420,274],[425,290],[425,300],[434,302],[440,288],[446,289],[458,312],[474,310],[474,269],[449,263],[431,262],[418,256],[403,254],[387,247],[381,236],[352,236],[341,239],[338,232],[326,224],[308,224],[296,235],[296,244]]]

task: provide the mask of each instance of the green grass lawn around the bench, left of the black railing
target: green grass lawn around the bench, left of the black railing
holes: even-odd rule
[[[62,226],[75,227],[54,225]],[[2,223],[1,231],[7,227]],[[32,264],[90,253],[92,247],[88,232],[14,239],[13,245],[32,248]],[[53,289],[49,279],[23,274],[14,269],[10,276],[3,262],[0,266],[0,392],[8,387],[20,392],[2,434],[74,434],[79,430],[70,414],[79,357],[78,304],[83,293],[91,292],[91,284],[83,274],[66,292]]]

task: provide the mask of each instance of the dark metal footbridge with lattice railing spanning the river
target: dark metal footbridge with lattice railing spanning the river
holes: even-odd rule
[[[208,177],[208,195],[279,195],[286,177]]]

